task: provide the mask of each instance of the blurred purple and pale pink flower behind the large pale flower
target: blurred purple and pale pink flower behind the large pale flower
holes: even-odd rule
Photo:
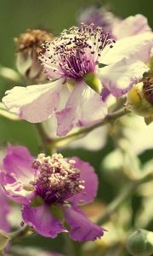
[[[118,17],[105,9],[90,6],[78,16],[78,22],[101,26],[106,32],[111,32],[115,39],[127,38],[144,32],[151,32],[148,20],[144,15],[129,16],[125,19]]]

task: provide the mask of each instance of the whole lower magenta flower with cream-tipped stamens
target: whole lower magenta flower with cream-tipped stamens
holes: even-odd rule
[[[69,230],[76,241],[104,235],[105,230],[77,207],[93,201],[97,191],[98,179],[87,162],[77,157],[65,159],[61,154],[39,154],[34,159],[26,148],[9,145],[3,166],[6,195],[24,206],[22,218],[37,233],[54,238]]]

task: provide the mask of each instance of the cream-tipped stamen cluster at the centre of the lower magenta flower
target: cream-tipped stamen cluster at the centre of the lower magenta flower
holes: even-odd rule
[[[84,189],[81,172],[74,167],[75,160],[64,159],[62,154],[45,157],[39,154],[32,167],[37,178],[33,183],[37,195],[47,203],[63,202]]]

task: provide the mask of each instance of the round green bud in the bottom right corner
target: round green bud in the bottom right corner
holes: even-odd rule
[[[127,239],[127,250],[133,256],[150,256],[153,253],[153,232],[136,230]]]

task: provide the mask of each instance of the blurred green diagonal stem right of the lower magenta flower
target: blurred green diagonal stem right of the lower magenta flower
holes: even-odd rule
[[[122,193],[116,196],[115,200],[111,202],[106,211],[99,217],[97,224],[104,224],[111,215],[116,212],[117,208],[120,207],[130,195],[133,195],[133,192],[138,188],[139,184],[150,181],[150,178],[153,178],[152,170],[151,172],[145,173],[139,179],[128,183]]]

